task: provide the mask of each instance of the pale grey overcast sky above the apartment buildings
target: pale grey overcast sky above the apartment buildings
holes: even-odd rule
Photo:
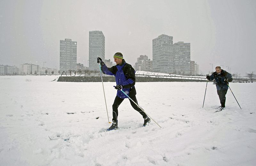
[[[0,0],[0,64],[59,69],[60,40],[72,39],[87,66],[89,31],[98,30],[105,59],[121,52],[132,65],[140,55],[152,60],[152,40],[166,34],[190,43],[204,74],[212,63],[244,76],[256,72],[255,20],[255,0]]]

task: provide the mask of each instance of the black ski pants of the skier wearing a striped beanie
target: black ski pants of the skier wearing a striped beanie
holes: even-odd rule
[[[137,99],[136,99],[136,96],[133,96],[133,97],[130,97],[134,102],[136,102],[136,104],[137,105],[139,105],[138,104],[138,101],[137,101]],[[130,99],[129,99],[130,100]],[[141,109],[140,109],[140,107],[138,107],[135,103],[133,103],[132,102],[132,100],[130,100],[130,103],[131,103],[131,105],[132,105],[132,108],[134,109],[134,110],[136,110],[136,111],[138,111],[141,115],[142,115],[142,117],[144,118],[144,119],[147,119],[147,114],[144,112],[144,111],[142,111]],[[113,103],[113,105],[112,105],[112,108],[113,108],[113,121],[116,121],[117,120],[117,116],[118,116],[118,107],[119,107],[119,105],[122,103],[124,101],[124,98],[120,98],[120,97],[118,97],[118,96],[116,96],[116,98],[115,98],[115,101],[114,101],[114,103]]]

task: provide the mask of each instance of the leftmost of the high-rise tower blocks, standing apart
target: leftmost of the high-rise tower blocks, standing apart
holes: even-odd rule
[[[77,43],[71,39],[60,40],[60,73],[76,70]]]

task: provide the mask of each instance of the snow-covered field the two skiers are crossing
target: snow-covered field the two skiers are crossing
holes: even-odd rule
[[[2,166],[254,166],[256,84],[230,83],[226,109],[208,83],[136,83],[143,119],[128,99],[119,130],[108,116],[102,83],[53,81],[57,76],[0,76]],[[109,120],[116,95],[104,83]],[[51,139],[50,139],[51,138]]]

